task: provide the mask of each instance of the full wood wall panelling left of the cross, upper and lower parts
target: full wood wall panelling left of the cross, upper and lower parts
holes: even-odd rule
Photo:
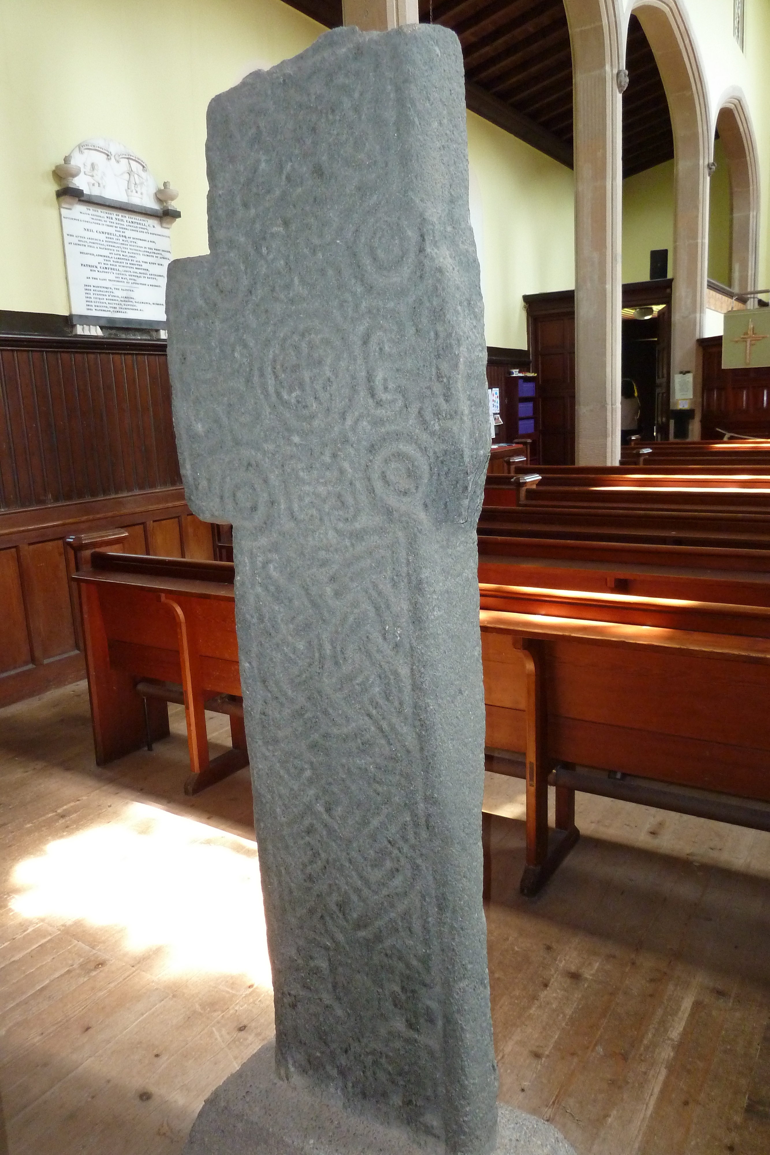
[[[115,527],[133,552],[212,556],[185,504],[165,343],[0,333],[0,705],[84,677],[65,537]]]

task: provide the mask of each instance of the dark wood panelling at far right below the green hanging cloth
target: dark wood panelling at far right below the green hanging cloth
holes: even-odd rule
[[[701,437],[720,438],[720,430],[747,437],[770,437],[770,368],[723,368],[722,337],[698,341],[703,412]]]

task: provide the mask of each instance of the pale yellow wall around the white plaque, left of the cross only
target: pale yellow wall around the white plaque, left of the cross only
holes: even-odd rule
[[[88,136],[171,180],[173,255],[205,253],[209,100],[321,31],[279,0],[0,0],[0,308],[69,312],[51,170]]]

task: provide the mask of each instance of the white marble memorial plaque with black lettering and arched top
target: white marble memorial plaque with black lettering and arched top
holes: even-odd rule
[[[54,170],[74,325],[165,328],[171,207],[148,165],[117,141],[83,141]]]

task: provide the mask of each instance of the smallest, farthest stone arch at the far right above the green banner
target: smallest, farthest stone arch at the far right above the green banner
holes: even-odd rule
[[[723,92],[717,132],[727,157],[732,193],[731,286],[735,292],[762,289],[756,284],[760,233],[760,164],[756,137],[746,98],[740,89]]]

